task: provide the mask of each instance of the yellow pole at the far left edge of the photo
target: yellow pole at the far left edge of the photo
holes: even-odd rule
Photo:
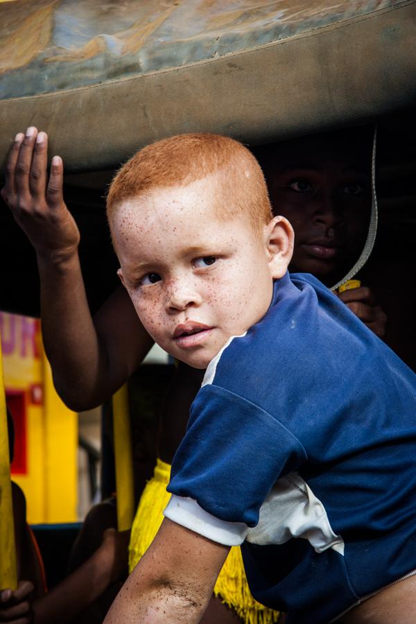
[[[15,526],[0,341],[0,589],[17,588]]]

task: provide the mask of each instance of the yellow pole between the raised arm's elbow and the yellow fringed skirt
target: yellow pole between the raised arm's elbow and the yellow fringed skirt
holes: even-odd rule
[[[135,515],[133,456],[128,388],[123,385],[112,398],[114,456],[116,458],[117,525],[119,531],[131,528]]]

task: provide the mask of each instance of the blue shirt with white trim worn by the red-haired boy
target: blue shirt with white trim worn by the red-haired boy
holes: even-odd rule
[[[166,517],[242,544],[250,589],[326,623],[416,569],[416,377],[311,275],[209,364]]]

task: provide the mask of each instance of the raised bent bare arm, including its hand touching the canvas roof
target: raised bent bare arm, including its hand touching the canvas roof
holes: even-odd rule
[[[78,227],[62,197],[62,159],[46,175],[47,136],[17,135],[1,194],[37,254],[42,333],[56,388],[73,409],[109,398],[137,368],[152,340],[122,288],[92,319],[78,258]]]

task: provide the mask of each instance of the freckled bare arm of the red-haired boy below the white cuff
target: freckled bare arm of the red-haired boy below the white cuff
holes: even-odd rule
[[[105,624],[199,622],[228,552],[229,546],[165,518],[114,600]]]

